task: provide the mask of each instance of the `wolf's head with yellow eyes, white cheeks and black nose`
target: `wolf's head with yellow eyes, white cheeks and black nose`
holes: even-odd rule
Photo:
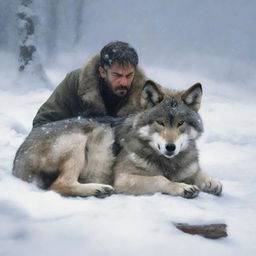
[[[149,92],[153,95],[154,88]],[[197,83],[186,91],[164,93],[161,103],[136,115],[133,128],[138,139],[157,153],[172,158],[186,150],[203,132],[198,114],[202,86]]]

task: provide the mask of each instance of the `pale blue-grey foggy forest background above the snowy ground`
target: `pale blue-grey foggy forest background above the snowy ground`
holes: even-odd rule
[[[8,69],[17,68],[21,1],[0,1],[1,67]],[[255,93],[255,1],[34,0],[32,12],[46,68],[69,72],[122,40],[137,49],[143,67],[193,72]]]

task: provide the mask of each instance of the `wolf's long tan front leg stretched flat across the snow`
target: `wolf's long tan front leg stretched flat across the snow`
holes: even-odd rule
[[[119,173],[115,177],[114,188],[117,193],[145,195],[157,192],[185,198],[194,198],[199,189],[195,185],[172,182],[164,176],[141,176]]]

